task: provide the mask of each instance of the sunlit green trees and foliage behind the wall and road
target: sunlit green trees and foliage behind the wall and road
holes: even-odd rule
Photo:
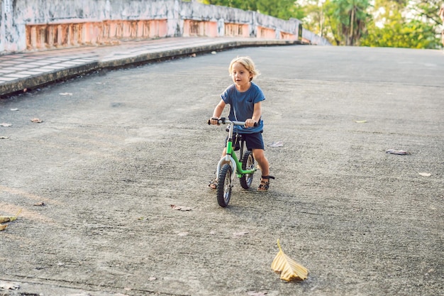
[[[199,0],[298,18],[335,45],[439,48],[443,0]],[[301,5],[303,3],[304,5]]]

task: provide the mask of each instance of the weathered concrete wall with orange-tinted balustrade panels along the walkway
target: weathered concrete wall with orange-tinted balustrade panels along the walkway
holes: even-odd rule
[[[1,0],[0,54],[173,36],[298,40],[300,24],[196,1]]]

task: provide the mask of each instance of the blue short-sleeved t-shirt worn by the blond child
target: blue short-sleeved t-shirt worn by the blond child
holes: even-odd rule
[[[255,110],[255,103],[265,100],[262,90],[253,82],[246,92],[239,92],[234,84],[231,84],[221,94],[221,99],[225,104],[230,104],[230,114],[228,119],[231,121],[245,121],[252,118]],[[257,126],[245,128],[244,126],[234,126],[236,133],[259,133],[264,128],[262,116],[257,122]]]

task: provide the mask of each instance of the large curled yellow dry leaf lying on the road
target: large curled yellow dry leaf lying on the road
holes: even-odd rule
[[[281,274],[281,280],[305,280],[309,275],[309,270],[285,255],[279,244],[279,239],[277,240],[277,246],[279,247],[279,253],[274,257],[272,270]]]

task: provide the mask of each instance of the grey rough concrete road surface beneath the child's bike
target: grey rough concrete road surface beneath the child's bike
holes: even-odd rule
[[[223,209],[206,185],[226,133],[206,119],[238,55],[283,146],[270,192],[258,171]],[[294,45],[2,100],[0,215],[22,212],[0,231],[0,295],[443,295],[443,77],[438,50]],[[277,239],[307,280],[272,272]]]

